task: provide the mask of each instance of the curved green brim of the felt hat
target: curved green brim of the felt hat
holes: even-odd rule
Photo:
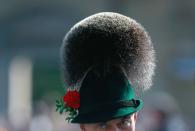
[[[136,100],[138,105],[136,107],[120,107],[113,110],[106,110],[100,112],[86,113],[86,114],[78,114],[71,123],[97,123],[97,122],[105,122],[109,120],[113,120],[116,118],[124,117],[127,115],[131,115],[137,111],[139,111],[143,107],[142,100]]]

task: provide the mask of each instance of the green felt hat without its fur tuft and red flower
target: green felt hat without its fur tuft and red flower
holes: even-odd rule
[[[133,88],[122,70],[100,70],[93,68],[84,78],[79,91],[79,113],[72,123],[108,121],[142,108],[142,101],[134,99]]]

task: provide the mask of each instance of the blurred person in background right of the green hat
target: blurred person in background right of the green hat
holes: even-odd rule
[[[190,131],[172,95],[161,91],[145,98],[147,105],[139,117],[138,131]]]

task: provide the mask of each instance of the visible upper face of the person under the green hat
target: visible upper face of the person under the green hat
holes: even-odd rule
[[[109,121],[80,124],[81,131],[135,131],[137,113]]]

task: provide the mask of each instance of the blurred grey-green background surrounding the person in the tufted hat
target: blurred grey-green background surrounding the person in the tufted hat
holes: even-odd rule
[[[0,131],[79,131],[55,112],[59,49],[71,26],[102,11],[140,22],[156,49],[137,131],[195,131],[194,0],[0,0]]]

